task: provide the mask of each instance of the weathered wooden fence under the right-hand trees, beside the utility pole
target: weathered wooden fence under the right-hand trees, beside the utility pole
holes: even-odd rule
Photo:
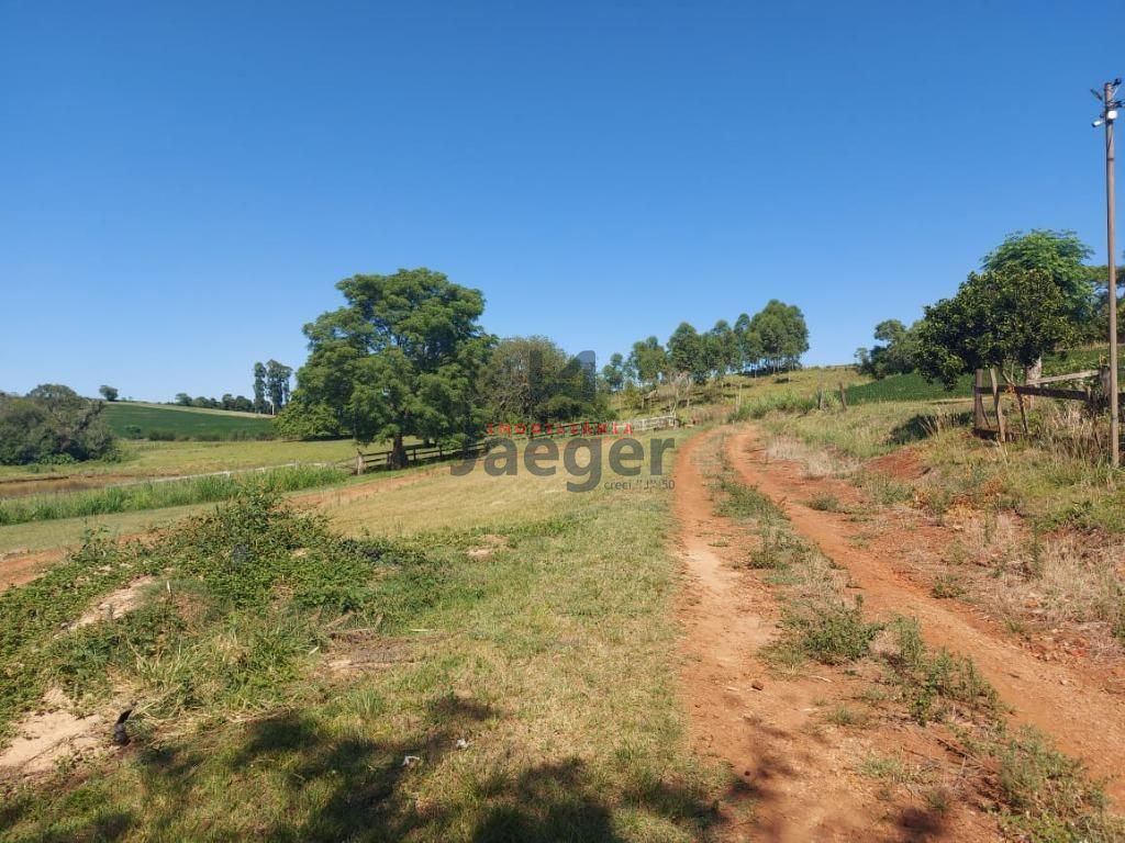
[[[986,379],[988,382],[986,383]],[[1070,389],[1046,384],[1076,384]],[[1056,374],[1051,378],[1037,378],[1027,383],[1000,383],[996,369],[978,369],[973,383],[973,433],[978,436],[1007,441],[1012,437],[1004,415],[1004,397],[1014,396],[1019,410],[1019,422],[1024,434],[1027,429],[1027,405],[1025,398],[1053,398],[1062,401],[1082,401],[1091,411],[1099,411],[1108,402],[1109,368],[1089,369],[1082,372]],[[989,417],[984,398],[989,397],[992,405],[992,416]],[[1120,396],[1125,401],[1125,393]]]

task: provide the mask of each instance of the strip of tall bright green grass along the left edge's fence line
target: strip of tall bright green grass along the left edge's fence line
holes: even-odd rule
[[[86,491],[28,495],[0,499],[0,526],[210,504],[228,500],[246,490],[296,491],[340,482],[344,477],[342,470],[333,466],[294,465],[241,475],[216,474]]]

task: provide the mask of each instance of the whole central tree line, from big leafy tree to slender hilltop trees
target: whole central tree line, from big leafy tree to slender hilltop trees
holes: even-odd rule
[[[488,422],[609,418],[606,387],[778,370],[796,365],[808,348],[801,311],[771,301],[734,327],[719,323],[700,335],[682,325],[667,350],[655,337],[642,341],[628,363],[614,355],[598,378],[592,355],[573,357],[547,337],[488,334],[479,323],[480,291],[439,272],[354,275],[336,288],[345,305],[304,328],[309,355],[278,432],[389,439],[398,465],[407,436],[456,443],[478,437]]]

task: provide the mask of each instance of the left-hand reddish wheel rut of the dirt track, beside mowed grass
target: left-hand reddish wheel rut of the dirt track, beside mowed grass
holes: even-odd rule
[[[981,841],[993,837],[979,814],[948,812],[940,828],[919,826],[909,809],[881,800],[852,765],[871,749],[871,734],[826,735],[818,700],[829,681],[774,680],[756,658],[776,632],[770,588],[745,566],[748,537],[714,506],[698,461],[723,429],[677,448],[675,510],[687,581],[678,614],[685,636],[683,681],[696,750],[730,764],[738,779],[721,806],[724,840]],[[718,454],[716,452],[714,456]],[[843,689],[831,686],[835,692]],[[912,735],[897,733],[892,742]],[[884,738],[885,743],[885,738]],[[741,805],[741,801],[747,805]],[[753,807],[749,807],[753,806]],[[740,810],[753,813],[739,818]]]

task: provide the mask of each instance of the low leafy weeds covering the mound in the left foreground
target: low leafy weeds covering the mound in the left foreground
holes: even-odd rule
[[[11,665],[0,671],[0,735],[48,685],[82,703],[108,692],[109,676],[136,689],[150,717],[279,705],[338,619],[394,633],[441,592],[441,571],[387,541],[340,538],[266,493],[150,544],[91,540],[0,593],[0,663]],[[144,575],[160,582],[136,610],[68,628]]]

